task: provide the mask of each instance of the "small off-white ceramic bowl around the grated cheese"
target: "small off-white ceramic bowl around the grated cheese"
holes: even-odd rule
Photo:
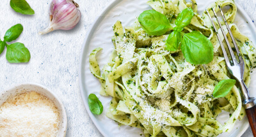
[[[60,129],[57,136],[65,137],[67,131],[67,114],[65,108],[61,103],[60,99],[53,92],[51,92],[51,90],[47,89],[42,85],[36,83],[22,83],[19,85],[15,85],[8,90],[4,90],[3,92],[0,92],[0,106],[3,105],[3,103],[9,97],[16,96],[17,94],[22,94],[27,91],[38,92],[39,94],[48,97],[54,103],[60,113]]]

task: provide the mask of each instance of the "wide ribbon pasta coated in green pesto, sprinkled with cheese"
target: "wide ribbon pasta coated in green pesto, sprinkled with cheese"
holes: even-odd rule
[[[212,96],[217,83],[229,79],[230,75],[211,20],[205,12],[199,15],[196,1],[191,1],[151,0],[148,4],[171,20],[172,27],[175,27],[173,22],[180,11],[193,8],[195,15],[182,32],[199,31],[207,36],[214,49],[213,61],[209,64],[191,64],[184,59],[181,50],[166,50],[168,33],[150,36],[138,20],[132,27],[123,27],[117,21],[113,26],[112,39],[115,50],[102,74],[96,60],[96,54],[102,48],[96,48],[90,55],[90,70],[102,86],[100,94],[113,97],[107,117],[120,125],[140,128],[145,136],[190,137],[218,136],[230,132],[236,120],[246,115],[236,85],[225,97]],[[255,48],[252,41],[233,24],[237,12],[234,1],[218,0],[207,10],[213,7],[218,11],[218,5],[231,7],[225,12],[225,17],[243,54],[246,63],[244,82],[249,86],[250,70],[256,67]],[[210,14],[213,15],[212,11]],[[227,30],[225,32],[228,33]],[[228,34],[227,37],[230,39]],[[224,125],[216,120],[222,110],[230,113]]]

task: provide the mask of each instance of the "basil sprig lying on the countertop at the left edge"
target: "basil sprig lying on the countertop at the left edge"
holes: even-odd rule
[[[21,24],[13,25],[4,35],[4,41],[0,40],[0,54],[3,52],[4,47],[7,48],[6,59],[10,63],[29,62],[30,52],[28,48],[22,43],[12,43],[8,45],[6,42],[11,42],[19,38],[23,31]]]

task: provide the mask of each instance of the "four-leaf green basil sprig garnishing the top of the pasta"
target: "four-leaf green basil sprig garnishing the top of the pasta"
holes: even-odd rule
[[[192,8],[182,10],[175,20],[174,31],[166,40],[166,49],[172,52],[181,48],[186,61],[191,64],[208,64],[213,59],[213,46],[204,34],[192,31],[184,34],[183,29],[190,24],[194,16]],[[172,29],[169,20],[155,10],[147,10],[140,14],[138,20],[148,34],[160,36]]]

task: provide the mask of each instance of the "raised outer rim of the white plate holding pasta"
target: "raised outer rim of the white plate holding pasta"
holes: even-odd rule
[[[99,132],[103,135],[103,136],[107,136],[107,133],[105,133],[103,131],[103,129],[99,126],[99,124],[97,123],[97,119],[95,118],[95,115],[93,115],[93,113],[90,112],[90,108],[88,106],[88,99],[86,98],[86,94],[85,92],[87,92],[86,90],[83,90],[84,86],[83,85],[83,74],[85,73],[85,71],[83,71],[84,66],[83,66],[83,62],[84,64],[86,64],[86,58],[84,58],[84,54],[87,52],[87,48],[88,48],[88,40],[89,38],[92,37],[92,31],[97,28],[100,24],[100,22],[104,19],[105,15],[109,12],[109,10],[111,10],[112,8],[114,8],[118,3],[120,3],[122,1],[120,0],[113,0],[111,1],[106,8],[104,8],[104,10],[102,10],[102,12],[99,14],[99,16],[97,18],[95,18],[95,20],[92,23],[92,26],[90,26],[90,29],[88,30],[88,33],[86,34],[84,41],[83,41],[83,45],[82,45],[82,50],[81,50],[81,54],[80,54],[80,62],[79,62],[79,89],[80,89],[80,93],[83,99],[83,105],[86,108],[86,112],[88,113],[88,115],[90,116],[90,119],[92,119],[93,124],[95,125],[95,127],[97,127],[97,129],[99,130]],[[236,3],[236,2],[235,2]],[[246,21],[248,21],[248,25],[250,25],[250,27],[253,29],[253,31],[256,32],[256,27],[252,22],[252,19],[249,17],[248,13],[246,13],[246,11],[244,11],[244,9],[236,3],[237,6],[237,12],[241,12],[241,14],[243,15],[243,17],[246,19]],[[249,127],[249,122],[248,120],[245,123],[246,125],[243,127],[243,129],[241,130],[241,132],[239,134],[237,134],[237,136],[242,136],[245,131],[248,129]]]

